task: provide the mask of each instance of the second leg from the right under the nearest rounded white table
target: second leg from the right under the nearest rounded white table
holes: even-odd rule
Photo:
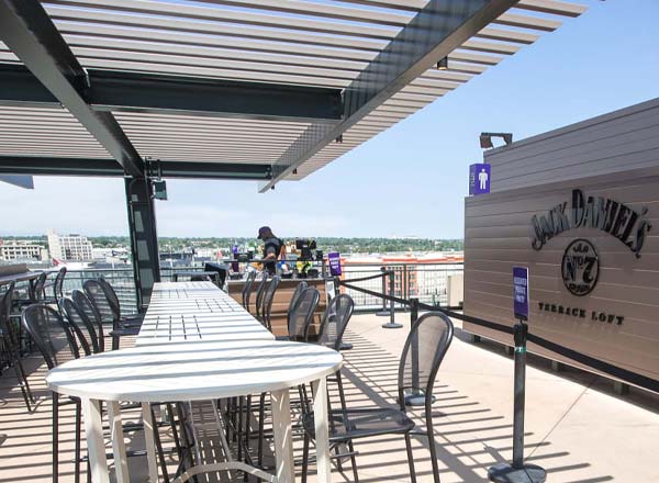
[[[293,435],[289,390],[272,391],[270,402],[277,458],[277,483],[293,483]]]

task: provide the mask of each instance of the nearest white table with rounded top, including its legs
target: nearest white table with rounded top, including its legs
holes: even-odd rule
[[[71,360],[49,371],[46,383],[55,392],[81,400],[94,483],[110,482],[101,401],[108,402],[112,433],[118,435],[112,447],[119,483],[131,481],[120,429],[119,402],[143,403],[149,476],[156,482],[156,454],[153,441],[149,441],[153,438],[148,436],[153,424],[149,403],[209,401],[266,392],[270,393],[272,404],[277,460],[271,481],[292,483],[289,389],[311,383],[317,481],[331,483],[326,377],[334,374],[342,364],[343,357],[338,352],[310,344],[273,340],[177,342],[145,345]],[[213,464],[213,470],[219,470],[222,464]]]

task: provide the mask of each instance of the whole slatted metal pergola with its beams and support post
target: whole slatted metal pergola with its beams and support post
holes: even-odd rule
[[[0,0],[0,173],[124,177],[143,305],[159,280],[152,178],[300,180],[584,10]]]

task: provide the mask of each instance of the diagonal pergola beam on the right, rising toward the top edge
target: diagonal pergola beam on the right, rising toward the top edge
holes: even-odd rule
[[[517,0],[431,0],[348,86],[344,119],[314,124],[273,166],[265,192],[370,114],[442,58],[514,7]]]

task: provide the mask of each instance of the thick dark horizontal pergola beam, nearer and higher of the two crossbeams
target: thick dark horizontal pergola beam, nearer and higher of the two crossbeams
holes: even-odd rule
[[[342,119],[338,89],[89,70],[85,101],[94,111],[330,122]],[[0,64],[0,104],[59,105],[25,67]]]

